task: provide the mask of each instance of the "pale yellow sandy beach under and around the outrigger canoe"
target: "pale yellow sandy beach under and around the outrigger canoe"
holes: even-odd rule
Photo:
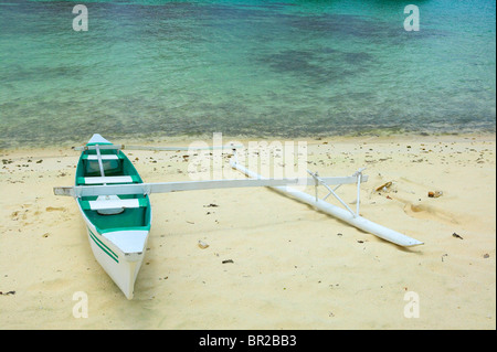
[[[361,215],[424,245],[401,248],[265,188],[152,194],[127,300],[74,200],[53,194],[74,184],[78,152],[0,150],[0,329],[496,329],[495,135],[307,146],[320,175],[366,167]],[[189,180],[184,151],[126,153],[146,182]],[[350,204],[355,192],[340,189]],[[87,318],[73,314],[75,292]]]

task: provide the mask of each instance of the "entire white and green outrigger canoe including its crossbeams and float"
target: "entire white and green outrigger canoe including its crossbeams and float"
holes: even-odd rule
[[[399,246],[410,247],[423,244],[359,215],[360,185],[361,182],[368,181],[368,177],[362,174],[363,170],[358,170],[350,177],[325,178],[308,171],[310,178],[268,179],[239,163],[235,147],[223,148],[233,150],[231,167],[248,179],[145,183],[121,150],[179,150],[180,148],[125,147],[113,145],[98,134],[95,134],[86,146],[75,148],[75,150],[82,150],[76,168],[75,185],[56,186],[54,193],[75,198],[95,258],[128,299],[133,299],[135,281],[150,233],[152,213],[149,196],[151,193],[268,186]],[[290,186],[303,184],[315,185],[315,195]],[[357,184],[356,211],[335,192],[342,184]],[[329,191],[322,199],[318,198],[319,185]],[[326,202],[329,195],[334,195],[343,207]]]

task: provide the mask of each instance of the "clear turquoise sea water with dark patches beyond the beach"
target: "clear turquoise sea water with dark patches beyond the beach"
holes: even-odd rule
[[[0,0],[0,148],[495,131],[495,75],[489,0]]]

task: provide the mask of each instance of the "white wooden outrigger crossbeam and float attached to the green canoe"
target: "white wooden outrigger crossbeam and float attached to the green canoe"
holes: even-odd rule
[[[113,146],[99,146],[101,149],[120,149],[121,145]],[[91,147],[95,148],[95,147]],[[223,146],[223,148],[229,148],[229,146]],[[231,146],[230,148],[233,148]],[[160,150],[160,149],[152,149]],[[178,150],[177,147],[168,147],[168,150]],[[112,195],[112,194],[151,194],[151,193],[169,193],[169,192],[180,192],[180,191],[199,191],[199,190],[212,190],[212,189],[225,189],[225,188],[248,188],[248,186],[268,186],[283,194],[295,198],[304,203],[315,206],[319,211],[332,215],[356,226],[362,231],[371,233],[380,238],[392,242],[399,246],[415,246],[423,244],[422,242],[403,235],[399,232],[373,223],[359,215],[359,204],[360,204],[360,183],[368,181],[368,175],[362,174],[362,170],[359,170],[350,177],[319,177],[317,173],[308,171],[311,178],[295,178],[295,179],[267,179],[264,178],[237,162],[235,148],[233,148],[233,158],[230,160],[231,167],[243,172],[250,179],[224,179],[224,180],[205,180],[205,181],[184,181],[184,182],[158,182],[158,183],[134,183],[134,184],[109,184],[114,182],[119,182],[118,178],[106,178],[107,182],[105,185],[76,185],[76,186],[56,186],[54,188],[54,193],[56,195],[67,195],[73,198],[82,196],[99,196],[99,195]],[[88,183],[88,182],[86,182]],[[346,202],[343,202],[335,192],[341,184],[356,184],[357,183],[357,207],[356,212],[352,211]],[[316,188],[316,194],[313,196],[305,192],[289,188],[289,185],[304,185],[314,184]],[[317,186],[325,186],[329,193],[319,199],[317,196]],[[337,185],[335,189],[329,188],[329,185]],[[334,195],[343,206],[341,209],[334,204],[326,202],[325,200]],[[105,205],[105,204],[108,205]],[[112,201],[94,201],[91,206],[95,209],[115,209],[116,202]],[[131,203],[126,204],[120,203],[123,209],[133,207]]]

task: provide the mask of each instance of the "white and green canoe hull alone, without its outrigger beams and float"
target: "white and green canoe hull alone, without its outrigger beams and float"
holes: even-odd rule
[[[142,183],[125,153],[101,135],[94,135],[81,153],[76,186]],[[76,198],[95,258],[133,298],[135,280],[144,262],[151,223],[148,194],[87,195]]]

